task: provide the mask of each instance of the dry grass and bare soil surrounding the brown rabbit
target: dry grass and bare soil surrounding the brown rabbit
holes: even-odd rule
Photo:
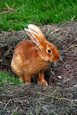
[[[60,59],[45,71],[48,87],[32,84],[1,87],[1,115],[77,114],[77,21],[40,27],[45,37],[58,47]],[[15,45],[29,39],[24,30],[0,32],[0,70],[11,72]]]

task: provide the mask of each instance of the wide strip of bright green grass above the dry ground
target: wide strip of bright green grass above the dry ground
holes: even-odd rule
[[[8,8],[14,11],[3,13]],[[52,24],[77,19],[77,0],[0,0],[0,30],[20,30],[29,23]]]

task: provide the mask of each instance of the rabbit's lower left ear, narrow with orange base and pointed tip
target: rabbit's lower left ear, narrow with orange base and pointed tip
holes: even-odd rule
[[[27,32],[28,36],[31,38],[31,40],[39,47],[41,48],[42,45],[40,43],[40,36],[36,34],[35,32],[28,30],[25,28],[25,31]]]

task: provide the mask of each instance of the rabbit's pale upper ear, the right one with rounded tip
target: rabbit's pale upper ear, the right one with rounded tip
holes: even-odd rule
[[[43,33],[41,32],[41,30],[39,29],[39,27],[33,25],[33,24],[29,24],[28,25],[28,29],[35,32],[36,34],[38,34],[41,38],[41,40],[46,40]]]

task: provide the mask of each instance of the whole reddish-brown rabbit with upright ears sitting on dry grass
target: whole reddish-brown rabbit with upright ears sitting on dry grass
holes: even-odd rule
[[[24,40],[16,45],[11,68],[21,81],[30,83],[31,76],[37,74],[38,84],[48,85],[44,79],[44,70],[50,62],[59,59],[58,50],[45,39],[37,26],[30,24],[25,30],[31,40]]]

